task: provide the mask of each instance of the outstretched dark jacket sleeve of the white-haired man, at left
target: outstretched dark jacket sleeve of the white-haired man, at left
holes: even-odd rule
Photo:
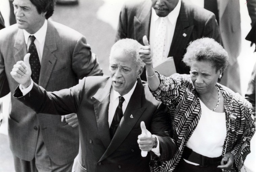
[[[32,90],[25,96],[23,96],[19,86],[14,91],[13,96],[37,113],[66,115],[77,113],[83,97],[84,84],[85,78],[70,89],[47,92],[33,83]]]

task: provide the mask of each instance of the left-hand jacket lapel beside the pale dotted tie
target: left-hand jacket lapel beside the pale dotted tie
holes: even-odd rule
[[[145,1],[143,5],[140,6],[138,11],[141,11],[139,15],[134,16],[134,35],[135,40],[143,44],[142,38],[144,35],[149,39],[150,22],[151,22],[151,2]]]

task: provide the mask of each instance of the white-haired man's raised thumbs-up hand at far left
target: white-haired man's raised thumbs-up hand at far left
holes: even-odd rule
[[[13,65],[10,72],[12,78],[21,84],[22,88],[27,88],[31,84],[31,68],[29,64],[30,53],[26,54],[24,61],[18,61]]]

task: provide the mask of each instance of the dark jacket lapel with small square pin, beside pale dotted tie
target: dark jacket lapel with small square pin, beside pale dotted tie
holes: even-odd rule
[[[168,57],[173,56],[174,62],[176,64],[179,64],[181,59],[177,59],[177,58],[180,58],[180,56],[175,56],[175,54],[177,54],[177,52],[180,52],[180,51],[183,52],[184,49],[186,49],[187,44],[189,43],[190,35],[193,31],[193,28],[194,28],[194,25],[190,25],[188,12],[184,7],[183,1],[181,1],[180,14],[177,18],[177,22],[176,22],[172,42],[171,42],[171,47],[168,54]]]

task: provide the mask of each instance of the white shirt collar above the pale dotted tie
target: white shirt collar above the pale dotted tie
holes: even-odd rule
[[[172,25],[177,21],[179,13],[180,13],[180,9],[181,9],[181,0],[179,0],[176,7],[167,15],[167,18],[171,22]],[[153,21],[156,21],[158,18],[160,18],[156,14],[156,11],[154,10],[154,8],[152,8],[152,10],[151,10],[151,16],[153,17]]]

